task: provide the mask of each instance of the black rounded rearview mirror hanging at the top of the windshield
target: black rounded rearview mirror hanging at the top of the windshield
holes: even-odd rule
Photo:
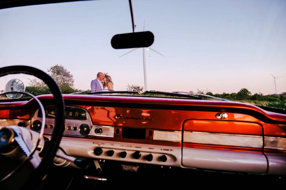
[[[126,49],[135,47],[149,47],[154,42],[154,35],[150,31],[116,34],[111,39],[114,49]]]

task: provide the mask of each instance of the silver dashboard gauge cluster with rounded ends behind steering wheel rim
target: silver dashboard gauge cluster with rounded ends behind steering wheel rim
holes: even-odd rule
[[[45,106],[46,124],[44,134],[52,134],[55,126],[55,107]],[[39,132],[42,125],[42,113],[37,109],[30,120],[33,131]],[[63,136],[85,137],[91,129],[91,118],[88,112],[79,107],[65,106],[65,130]]]

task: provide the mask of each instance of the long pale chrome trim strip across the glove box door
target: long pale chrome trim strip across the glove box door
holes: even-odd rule
[[[263,137],[257,135],[184,131],[184,143],[262,148]]]

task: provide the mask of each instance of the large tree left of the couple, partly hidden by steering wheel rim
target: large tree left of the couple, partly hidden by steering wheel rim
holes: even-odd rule
[[[63,65],[56,64],[48,69],[48,74],[55,80],[63,94],[70,94],[78,89],[74,89],[74,76]],[[29,79],[26,91],[34,95],[49,94],[49,88],[40,79]]]

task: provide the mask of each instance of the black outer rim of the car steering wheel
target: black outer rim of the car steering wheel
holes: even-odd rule
[[[42,157],[41,163],[38,165],[35,171],[32,172],[31,174],[32,176],[30,176],[29,178],[32,179],[31,181],[36,185],[35,182],[40,182],[44,178],[50,165],[52,164],[53,159],[58,150],[63,131],[65,129],[63,97],[59,87],[57,86],[57,83],[52,79],[52,77],[50,77],[47,73],[41,71],[40,69],[36,69],[31,66],[6,66],[0,68],[0,77],[10,74],[27,74],[38,77],[48,85],[49,89],[51,90],[54,96],[55,113],[56,113],[55,127],[52,132],[51,140],[49,141],[49,146],[47,147]],[[26,182],[26,184],[29,184],[29,182]]]

